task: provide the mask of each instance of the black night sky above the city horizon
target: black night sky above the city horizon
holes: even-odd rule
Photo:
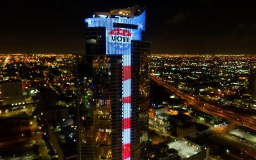
[[[243,0],[0,1],[0,53],[84,53],[84,18],[134,3],[152,53],[256,53],[256,7]]]

